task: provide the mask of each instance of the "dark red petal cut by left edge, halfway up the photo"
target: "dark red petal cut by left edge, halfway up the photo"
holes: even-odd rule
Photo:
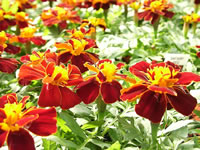
[[[19,62],[14,58],[0,58],[0,71],[13,73],[17,69]]]

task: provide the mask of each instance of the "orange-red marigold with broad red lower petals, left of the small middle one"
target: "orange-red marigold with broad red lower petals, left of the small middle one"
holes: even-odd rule
[[[51,53],[48,54],[51,55]],[[62,109],[69,109],[79,104],[81,99],[67,88],[67,86],[75,86],[82,82],[79,69],[71,64],[66,68],[64,65],[58,66],[54,62],[55,59],[52,60],[53,57],[45,56],[45,59],[39,63],[38,57],[41,55],[30,57],[33,63],[21,66],[19,80],[28,82],[42,79],[43,87],[39,96],[39,106],[60,106]]]

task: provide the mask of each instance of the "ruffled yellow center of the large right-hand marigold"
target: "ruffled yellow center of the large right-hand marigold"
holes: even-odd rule
[[[177,71],[171,71],[168,67],[160,66],[149,69],[147,77],[153,85],[172,87],[178,80],[173,78],[177,73]]]

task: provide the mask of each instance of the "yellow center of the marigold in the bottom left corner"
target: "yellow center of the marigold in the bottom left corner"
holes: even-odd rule
[[[23,116],[22,103],[5,104],[3,110],[6,118],[0,123],[0,128],[4,131],[18,131],[19,125],[16,122]]]

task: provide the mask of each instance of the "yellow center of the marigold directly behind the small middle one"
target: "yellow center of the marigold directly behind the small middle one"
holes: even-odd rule
[[[73,49],[70,52],[74,56],[80,55],[85,50],[85,46],[88,44],[88,42],[83,39],[81,41],[77,39],[72,39],[72,41]]]

